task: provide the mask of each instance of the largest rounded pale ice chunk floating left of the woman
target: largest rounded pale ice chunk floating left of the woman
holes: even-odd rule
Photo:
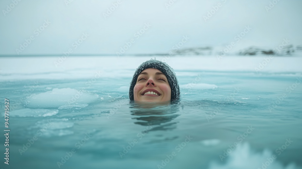
[[[80,109],[98,100],[98,98],[99,96],[97,94],[91,94],[86,91],[79,91],[71,88],[54,88],[52,91],[32,94],[27,97],[26,107]]]

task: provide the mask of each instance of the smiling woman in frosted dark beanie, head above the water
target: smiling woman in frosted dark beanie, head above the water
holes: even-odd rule
[[[156,59],[143,62],[130,82],[129,98],[142,102],[179,100],[180,90],[174,70]]]

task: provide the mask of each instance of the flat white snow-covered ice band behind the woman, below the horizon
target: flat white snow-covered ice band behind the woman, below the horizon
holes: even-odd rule
[[[0,81],[14,79],[132,77],[135,69],[155,58],[178,71],[302,73],[301,56],[47,56],[1,57]]]

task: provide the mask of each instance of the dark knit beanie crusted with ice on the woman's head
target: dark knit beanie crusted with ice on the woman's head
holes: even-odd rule
[[[146,62],[143,62],[134,72],[132,81],[130,82],[130,88],[129,88],[129,98],[131,101],[134,100],[133,96],[133,89],[137,81],[138,75],[143,72],[145,69],[158,69],[160,70],[163,74],[168,79],[170,88],[171,88],[171,101],[173,100],[179,100],[180,98],[180,90],[179,90],[179,85],[178,85],[178,80],[176,77],[176,74],[174,70],[165,62],[161,62],[159,60],[156,60],[156,58],[148,60]]]

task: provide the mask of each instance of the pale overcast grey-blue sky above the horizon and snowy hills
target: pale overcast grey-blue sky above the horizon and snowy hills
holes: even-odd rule
[[[300,0],[2,0],[0,55],[154,54],[175,44],[232,42],[243,49],[275,47],[284,38],[297,46],[301,6]]]

